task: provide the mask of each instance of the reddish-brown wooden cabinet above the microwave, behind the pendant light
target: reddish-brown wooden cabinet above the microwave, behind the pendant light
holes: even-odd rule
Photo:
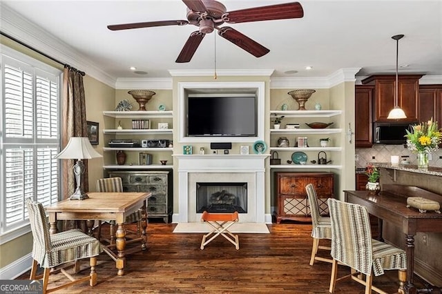
[[[422,75],[398,76],[398,106],[401,107],[406,119],[403,122],[418,121],[419,79]],[[378,122],[391,122],[387,119],[390,110],[394,108],[394,92],[396,91],[395,75],[373,75],[362,80],[364,85],[374,86],[373,119]]]

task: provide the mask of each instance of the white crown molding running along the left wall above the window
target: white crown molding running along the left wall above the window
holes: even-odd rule
[[[44,52],[54,59],[68,63],[70,66],[86,72],[88,76],[102,81],[112,88],[115,87],[115,78],[95,66],[93,61],[84,58],[84,55],[81,55],[79,51],[73,50],[72,46],[52,37],[46,30],[43,30],[1,2],[0,10],[2,32],[19,41],[23,41],[28,46]]]

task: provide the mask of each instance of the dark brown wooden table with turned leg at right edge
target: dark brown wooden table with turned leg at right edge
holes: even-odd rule
[[[367,190],[345,190],[345,201],[361,204],[367,208],[368,213],[381,220],[390,222],[400,228],[405,234],[405,251],[407,253],[407,282],[405,293],[419,293],[414,286],[414,235],[418,232],[442,232],[442,214],[428,211],[419,213],[419,210],[407,208],[407,197],[424,197],[442,202],[442,195],[431,193],[414,186],[396,184],[383,185],[383,191],[378,195]],[[382,223],[379,227],[382,238]],[[423,290],[423,293],[429,289]]]

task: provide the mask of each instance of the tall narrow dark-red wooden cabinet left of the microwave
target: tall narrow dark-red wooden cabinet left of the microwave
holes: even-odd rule
[[[355,86],[354,89],[354,144],[356,148],[373,145],[373,92],[374,86]]]

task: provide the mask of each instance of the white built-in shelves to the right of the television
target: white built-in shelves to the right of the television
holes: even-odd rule
[[[272,119],[275,116],[281,116],[283,115],[285,118],[304,118],[304,119],[311,119],[311,118],[330,118],[335,117],[337,115],[342,115],[342,110],[271,110],[270,111],[270,119]],[[301,122],[300,122],[301,123]],[[304,123],[304,121],[302,121]],[[300,128],[281,128],[281,129],[270,129],[270,135],[271,137],[276,137],[277,135],[334,135],[334,134],[340,134],[343,132],[342,128],[333,128],[333,125],[328,128],[308,128],[306,125],[306,128],[304,126],[300,126]],[[294,144],[293,144],[294,145]],[[278,152],[279,157],[281,157],[280,152],[332,152],[332,153],[338,153],[342,151],[342,147],[340,146],[333,146],[333,147],[320,147],[320,146],[314,146],[314,147],[276,147],[276,146],[270,146],[269,147],[270,153],[273,151]],[[314,158],[316,161],[317,159]],[[309,159],[307,162],[309,163],[311,159]],[[342,169],[342,166],[340,164],[286,164],[285,162],[282,162],[280,165],[271,165],[270,168],[282,168],[282,169]]]

